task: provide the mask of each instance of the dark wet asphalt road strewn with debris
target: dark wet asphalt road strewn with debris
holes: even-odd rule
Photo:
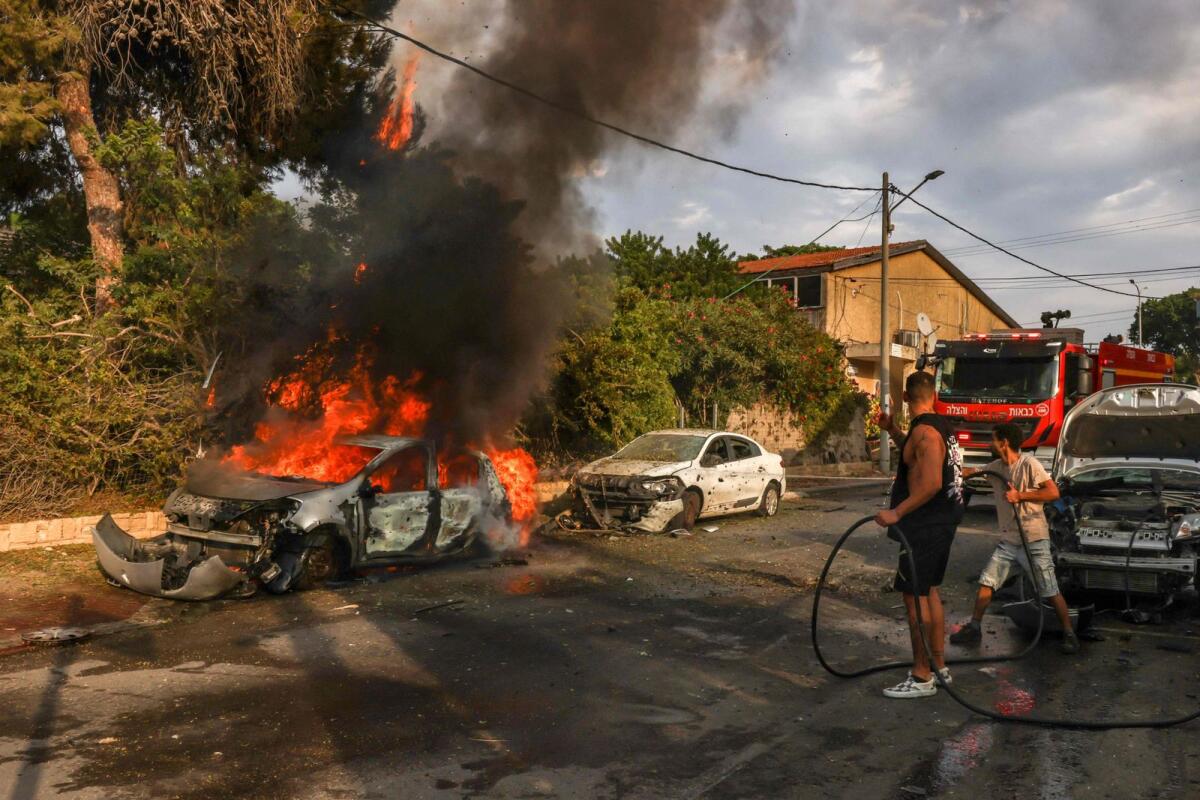
[[[140,618],[154,624],[0,657],[0,800],[1200,793],[1200,723],[1034,729],[944,694],[881,697],[901,674],[821,670],[812,581],[881,500],[880,485],[830,481],[774,519],[694,536],[560,534],[524,565],[152,601]],[[991,522],[973,509],[955,543],[953,620],[968,613]],[[894,553],[872,534],[835,567],[828,649],[847,664],[904,652],[900,597],[884,590]],[[1200,703],[1193,624],[1106,616],[1106,640],[1079,656],[1048,642],[955,679],[1009,712],[1174,714]],[[1007,618],[985,630],[989,649],[1020,645]]]

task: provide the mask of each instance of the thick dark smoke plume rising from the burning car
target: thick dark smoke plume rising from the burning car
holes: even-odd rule
[[[743,76],[769,60],[787,4],[752,5],[514,4],[492,54],[473,62],[556,101],[670,138],[703,122],[698,106],[727,112],[739,102],[704,98],[718,54],[732,54]],[[257,397],[251,390],[332,325],[342,337],[335,369],[344,371],[367,344],[378,378],[422,375],[420,387],[434,404],[431,434],[460,441],[503,437],[545,375],[564,307],[562,282],[534,253],[544,258],[563,242],[586,240],[590,215],[577,176],[626,143],[462,74],[440,103],[451,119],[430,126],[439,140],[421,142],[419,119],[414,140],[392,152],[372,137],[392,88],[386,82],[325,143],[330,175],[354,198],[336,221],[346,252],[330,257],[307,296],[293,301],[301,311],[242,360],[238,385],[247,399]],[[355,283],[359,261],[367,269]],[[254,415],[244,405],[230,417]]]

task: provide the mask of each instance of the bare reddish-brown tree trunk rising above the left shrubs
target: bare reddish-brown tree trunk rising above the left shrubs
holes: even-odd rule
[[[91,254],[102,273],[96,278],[96,312],[113,306],[113,287],[121,281],[121,259],[125,254],[124,209],[116,176],[92,155],[89,137],[97,136],[88,90],[90,70],[65,73],[58,83],[58,100],[62,107],[62,124],[67,144],[79,174],[83,176],[83,197],[88,206],[88,234]]]

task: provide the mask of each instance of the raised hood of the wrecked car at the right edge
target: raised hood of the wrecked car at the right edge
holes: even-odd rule
[[[1182,384],[1114,386],[1070,409],[1062,423],[1055,474],[1103,463],[1200,464],[1200,389]]]

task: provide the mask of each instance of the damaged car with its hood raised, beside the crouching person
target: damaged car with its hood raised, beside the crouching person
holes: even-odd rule
[[[1055,456],[1064,589],[1170,597],[1200,554],[1200,389],[1138,384],[1080,402]]]

